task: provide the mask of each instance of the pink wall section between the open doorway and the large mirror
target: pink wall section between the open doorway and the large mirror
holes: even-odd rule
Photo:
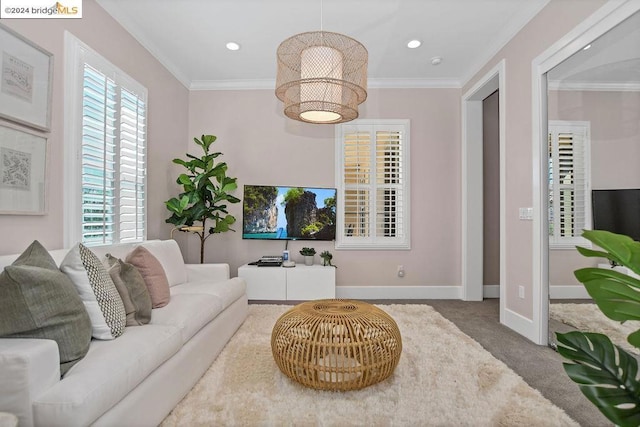
[[[462,90],[462,93],[469,91],[505,59],[506,307],[529,319],[533,318],[533,229],[531,221],[518,220],[518,209],[533,206],[531,62],[604,3],[604,0],[551,0]],[[523,299],[518,297],[519,286],[525,288]]]

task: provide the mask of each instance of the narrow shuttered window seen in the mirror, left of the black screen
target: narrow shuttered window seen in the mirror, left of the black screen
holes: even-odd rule
[[[549,246],[584,244],[591,228],[589,123],[549,122]]]

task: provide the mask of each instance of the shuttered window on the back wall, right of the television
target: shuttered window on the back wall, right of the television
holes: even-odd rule
[[[336,126],[337,249],[410,249],[409,121]]]

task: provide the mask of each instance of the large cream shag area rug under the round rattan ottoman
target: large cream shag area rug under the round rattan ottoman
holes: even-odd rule
[[[385,381],[349,392],[306,388],[280,372],[271,329],[291,306],[249,317],[162,426],[577,426],[428,305],[378,305],[402,334]]]

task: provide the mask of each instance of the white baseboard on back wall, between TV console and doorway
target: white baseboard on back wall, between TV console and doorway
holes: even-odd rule
[[[336,286],[345,299],[462,299],[462,286]]]

